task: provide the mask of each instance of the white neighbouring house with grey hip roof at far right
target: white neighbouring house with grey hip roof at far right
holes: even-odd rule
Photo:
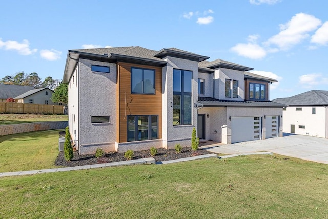
[[[287,105],[283,109],[283,131],[328,137],[328,91],[311,90],[273,101]]]

